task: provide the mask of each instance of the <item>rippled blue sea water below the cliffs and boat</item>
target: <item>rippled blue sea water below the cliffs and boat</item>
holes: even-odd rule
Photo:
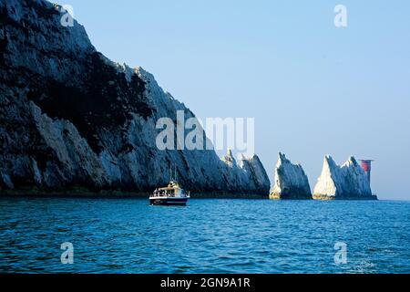
[[[0,272],[410,273],[410,203],[3,198]]]

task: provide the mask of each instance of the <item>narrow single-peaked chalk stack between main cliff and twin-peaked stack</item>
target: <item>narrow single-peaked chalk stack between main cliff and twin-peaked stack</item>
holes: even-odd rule
[[[275,168],[275,184],[271,199],[312,199],[311,187],[302,165],[292,164],[286,156],[279,153]]]

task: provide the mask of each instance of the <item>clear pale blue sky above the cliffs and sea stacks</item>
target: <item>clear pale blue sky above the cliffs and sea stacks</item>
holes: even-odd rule
[[[331,154],[374,159],[381,199],[410,200],[410,2],[67,0],[98,51],[145,68],[199,118],[255,119],[313,189]],[[336,27],[335,5],[347,8]]]

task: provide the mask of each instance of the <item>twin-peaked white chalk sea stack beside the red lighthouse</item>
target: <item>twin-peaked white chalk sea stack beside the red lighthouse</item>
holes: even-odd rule
[[[322,174],[314,188],[313,198],[377,199],[372,193],[366,173],[353,156],[339,166],[329,155],[324,158]]]

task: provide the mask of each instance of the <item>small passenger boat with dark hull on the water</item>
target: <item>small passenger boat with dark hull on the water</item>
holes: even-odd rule
[[[159,188],[149,196],[149,203],[152,205],[179,205],[185,206],[190,198],[190,193],[186,193],[175,180],[171,180],[167,187]]]

